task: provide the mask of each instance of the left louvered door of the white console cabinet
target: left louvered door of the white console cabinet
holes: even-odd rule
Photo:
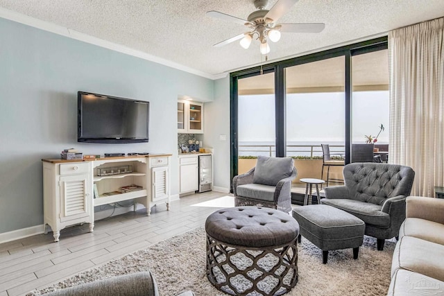
[[[60,222],[89,216],[91,191],[92,184],[87,174],[60,177]]]

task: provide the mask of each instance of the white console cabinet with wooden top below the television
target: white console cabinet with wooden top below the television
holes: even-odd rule
[[[61,229],[79,223],[89,223],[89,232],[92,232],[94,207],[123,200],[134,200],[134,209],[136,203],[144,204],[148,216],[157,203],[166,202],[169,210],[170,157],[105,157],[92,161],[42,159],[44,232],[47,233],[46,225],[49,225],[54,241],[59,241]],[[119,190],[133,184],[142,188],[124,193]]]

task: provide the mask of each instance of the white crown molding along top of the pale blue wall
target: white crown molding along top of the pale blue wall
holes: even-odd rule
[[[208,78],[211,80],[224,78],[225,76],[228,75],[228,73],[221,73],[221,74],[217,74],[217,75],[212,75],[210,73],[198,71],[196,69],[186,67],[182,64],[178,64],[176,62],[171,62],[169,60],[159,58],[155,55],[150,55],[148,53],[144,53],[144,52],[138,51],[136,49],[131,49],[131,48],[129,48],[127,46],[123,46],[121,44],[117,44],[117,43],[103,40],[103,39],[100,39],[97,37],[93,37],[91,35],[80,33],[74,29],[66,28],[64,26],[59,26],[57,24],[50,23],[49,21],[42,21],[41,19],[36,19],[35,17],[30,17],[28,15],[24,15],[19,12],[8,10],[6,8],[0,7],[0,17],[3,19],[9,19],[10,21],[16,21],[17,23],[25,24],[27,26],[32,26],[34,28],[39,28],[40,30],[44,30],[44,31],[48,31],[51,33],[65,36],[65,37],[69,37],[74,40],[79,40],[79,41],[86,42],[89,44],[94,44],[96,46],[101,46],[105,49],[110,49],[112,51],[117,51],[119,53],[124,53],[126,55],[133,55],[133,56],[135,56],[137,58],[141,58],[143,60],[148,60],[150,62],[162,64],[164,66],[167,66],[167,67],[170,67],[173,69],[178,69],[180,71],[191,73],[191,74],[201,76],[204,78]]]

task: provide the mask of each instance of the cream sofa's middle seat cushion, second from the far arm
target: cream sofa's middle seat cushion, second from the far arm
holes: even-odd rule
[[[403,236],[393,252],[391,276],[394,277],[396,270],[404,269],[444,281],[443,258],[444,245]]]

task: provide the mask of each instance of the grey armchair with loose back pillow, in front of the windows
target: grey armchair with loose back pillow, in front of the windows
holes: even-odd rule
[[[291,211],[291,181],[296,168],[290,157],[257,157],[255,168],[233,178],[234,204]]]

